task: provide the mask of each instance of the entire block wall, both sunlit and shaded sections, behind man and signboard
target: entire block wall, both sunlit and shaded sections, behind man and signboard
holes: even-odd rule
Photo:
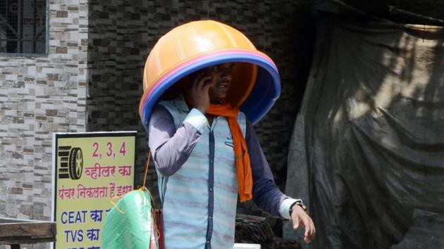
[[[139,131],[142,184],[147,145],[137,107],[144,61],[161,35],[201,19],[238,28],[280,69],[282,96],[255,128],[283,187],[311,54],[309,3],[50,0],[49,55],[0,57],[0,216],[50,219],[52,132]]]

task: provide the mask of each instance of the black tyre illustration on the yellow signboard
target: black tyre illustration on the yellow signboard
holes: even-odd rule
[[[80,179],[83,171],[82,149],[71,146],[59,146],[58,158],[60,159],[58,167],[59,179]]]

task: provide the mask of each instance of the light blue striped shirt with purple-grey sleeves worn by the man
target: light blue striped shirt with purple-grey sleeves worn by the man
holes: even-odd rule
[[[254,203],[289,219],[296,200],[274,183],[245,115],[236,118],[251,158]],[[233,248],[238,182],[226,118],[215,117],[210,126],[199,110],[188,108],[183,96],[160,102],[150,120],[149,148],[164,205],[166,248]]]

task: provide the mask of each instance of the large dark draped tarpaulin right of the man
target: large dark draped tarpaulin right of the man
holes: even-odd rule
[[[286,186],[313,248],[444,248],[442,28],[321,18],[314,53]]]

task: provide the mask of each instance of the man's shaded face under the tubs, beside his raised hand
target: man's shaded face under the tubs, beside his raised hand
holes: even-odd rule
[[[233,77],[233,66],[234,63],[222,63],[205,69],[205,74],[211,76],[213,84],[209,89],[211,103],[220,103],[220,99],[227,96]]]

